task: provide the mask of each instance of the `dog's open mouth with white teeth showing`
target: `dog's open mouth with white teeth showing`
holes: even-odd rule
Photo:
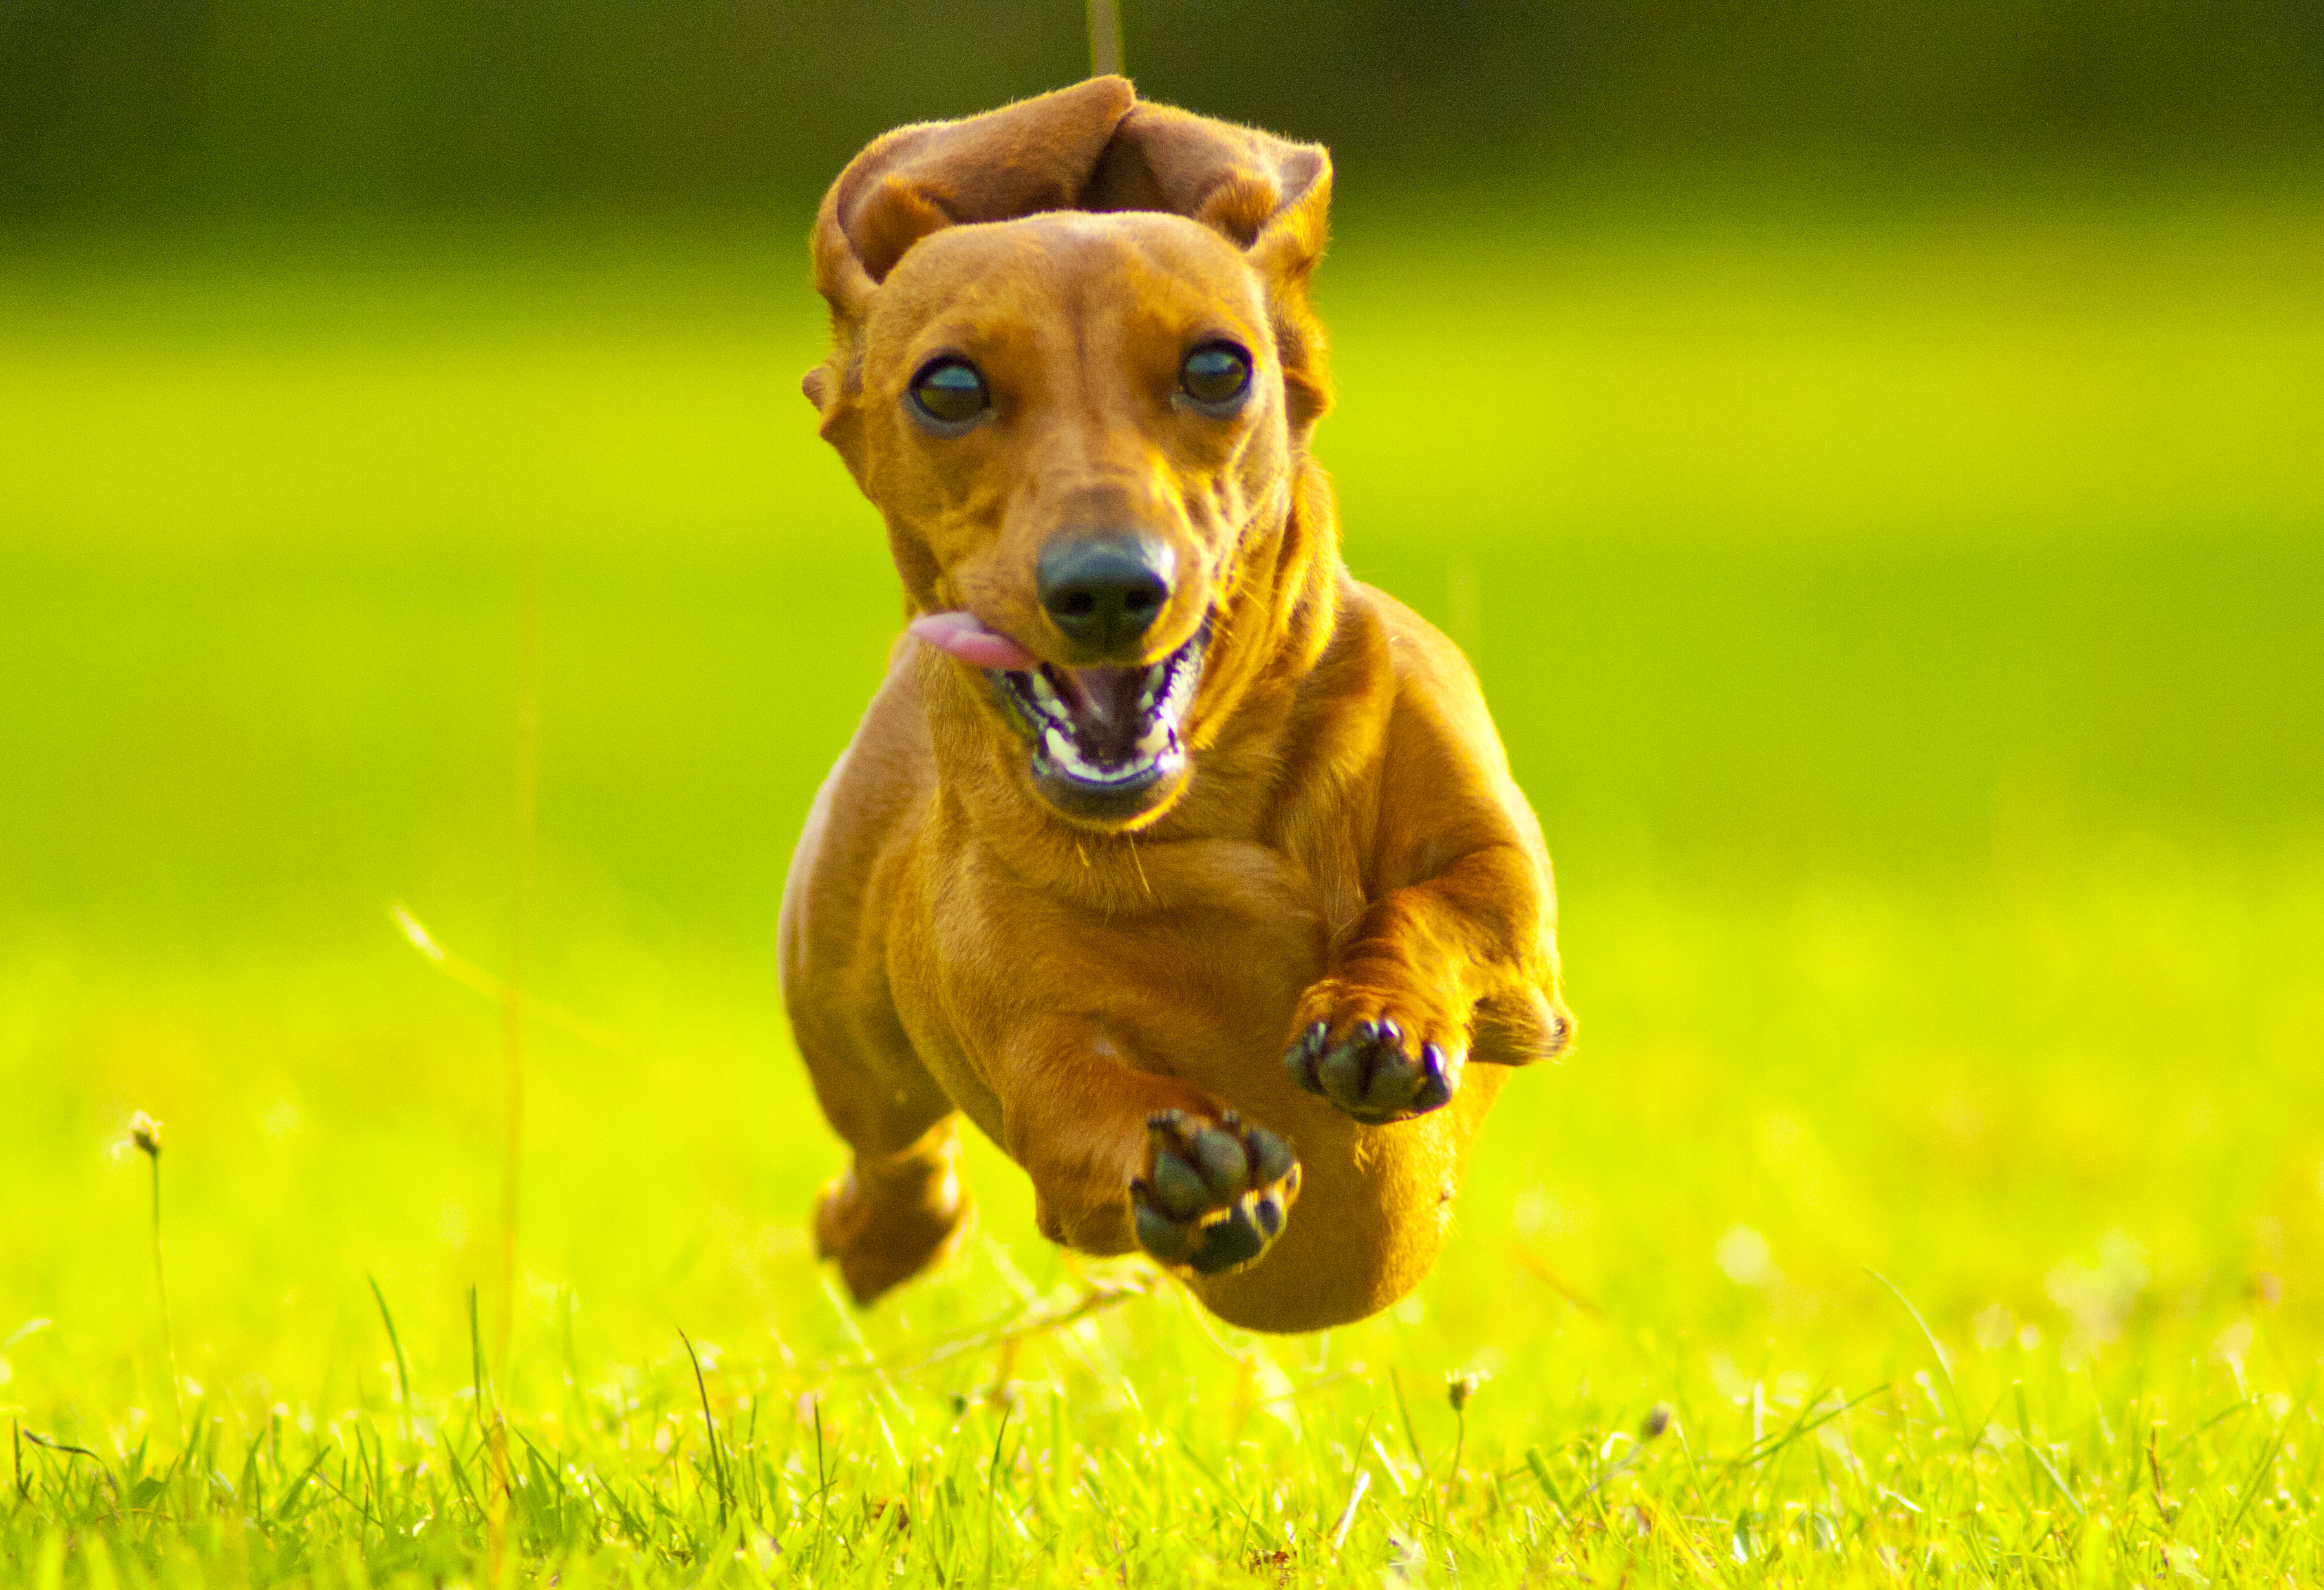
[[[1032,735],[1032,769],[1076,804],[1129,807],[1185,767],[1183,725],[1208,625],[1146,667],[985,669]]]

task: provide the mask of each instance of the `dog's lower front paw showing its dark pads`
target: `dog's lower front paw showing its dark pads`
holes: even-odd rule
[[[1299,1160],[1267,1127],[1169,1109],[1146,1123],[1146,1174],[1129,1181],[1139,1246],[1164,1265],[1218,1276],[1250,1265],[1283,1232]]]

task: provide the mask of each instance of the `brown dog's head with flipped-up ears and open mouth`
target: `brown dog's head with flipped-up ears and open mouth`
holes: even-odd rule
[[[1018,776],[1132,828],[1281,616],[1332,163],[1099,77],[888,132],[816,216],[823,435]],[[981,674],[976,672],[981,669]]]

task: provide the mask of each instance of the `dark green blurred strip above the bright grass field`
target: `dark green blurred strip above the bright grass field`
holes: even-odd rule
[[[1343,195],[1476,188],[1520,216],[1585,174],[2305,179],[2324,130],[2301,0],[1129,0],[1122,33],[1150,98],[1329,142]],[[0,214],[762,225],[874,132],[1088,58],[1078,0],[23,0]]]

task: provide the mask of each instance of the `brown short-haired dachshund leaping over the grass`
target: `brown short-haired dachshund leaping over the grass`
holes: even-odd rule
[[[1102,77],[899,128],[823,200],[806,395],[913,614],[783,890],[860,1302],[957,1241],[967,1113],[1050,1239],[1253,1330],[1362,1318],[1566,1044],[1476,674],[1348,576],[1308,458],[1329,186]]]

